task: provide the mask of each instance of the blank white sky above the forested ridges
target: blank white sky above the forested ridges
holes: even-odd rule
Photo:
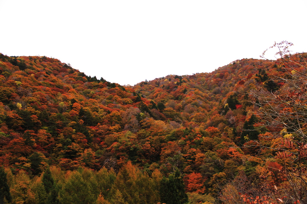
[[[307,52],[306,9],[306,0],[0,0],[0,52],[134,85],[257,59],[274,41]]]

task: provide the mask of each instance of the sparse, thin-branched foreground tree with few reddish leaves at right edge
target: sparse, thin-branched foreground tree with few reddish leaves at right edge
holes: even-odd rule
[[[259,125],[267,127],[272,134],[264,135],[263,140],[275,138],[277,144],[269,147],[277,151],[278,161],[283,165],[285,178],[290,183],[293,201],[307,201],[304,195],[307,187],[307,55],[305,53],[291,54],[292,43],[282,41],[270,48],[277,48],[280,58],[274,61],[268,76],[274,84],[280,85],[274,90],[267,82],[267,89],[250,91],[255,107],[255,115],[260,119]],[[267,50],[266,50],[267,51]],[[264,57],[266,51],[263,52]],[[270,86],[268,86],[270,85]],[[256,145],[263,146],[256,141]],[[300,184],[299,184],[300,183]]]

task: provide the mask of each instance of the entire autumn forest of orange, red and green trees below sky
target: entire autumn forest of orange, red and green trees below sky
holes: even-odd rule
[[[0,204],[307,203],[307,55],[289,46],[134,86],[0,53]]]

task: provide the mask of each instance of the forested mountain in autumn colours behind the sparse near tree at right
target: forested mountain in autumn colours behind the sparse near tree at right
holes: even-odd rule
[[[269,131],[254,128],[259,120],[249,93],[278,90],[283,83],[271,79],[277,72],[269,60],[241,59],[211,73],[168,75],[131,87],[87,76],[57,59],[0,54],[0,163],[11,179],[12,199],[17,203],[21,197],[17,183],[25,177],[32,183],[32,197],[26,199],[42,199],[35,188],[44,184],[47,164],[62,185],[55,198],[63,203],[69,182],[78,179],[91,192],[84,203],[141,203],[133,199],[143,193],[128,195],[119,187],[125,173],[162,182],[142,203],[163,202],[159,189],[175,182],[176,169],[190,203],[239,203],[241,197],[232,191],[250,198],[258,186],[268,191],[268,180],[275,187],[286,185],[266,175],[271,168],[275,179],[282,178],[280,162],[268,159],[275,150],[247,147],[249,139],[259,140]],[[266,141],[271,145],[274,140]],[[98,187],[99,181],[91,183],[86,171],[96,179],[102,171],[109,179],[113,175],[109,191]],[[265,190],[261,195],[273,192],[266,195]],[[49,191],[44,192],[46,197]]]

